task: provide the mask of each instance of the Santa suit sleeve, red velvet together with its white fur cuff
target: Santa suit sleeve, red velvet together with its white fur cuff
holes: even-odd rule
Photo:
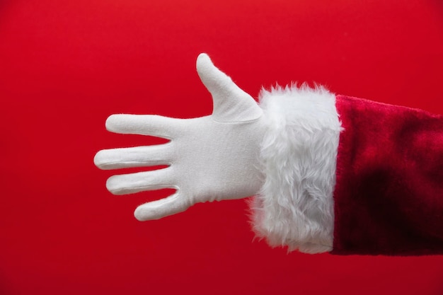
[[[443,254],[441,115],[306,87],[260,105],[258,236],[304,253]]]

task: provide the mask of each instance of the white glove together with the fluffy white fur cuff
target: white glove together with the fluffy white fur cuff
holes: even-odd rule
[[[212,94],[212,115],[175,119],[157,115],[111,115],[111,132],[170,139],[158,146],[99,151],[102,169],[166,165],[114,175],[115,195],[171,187],[176,193],[142,204],[140,221],[159,219],[197,202],[253,199],[253,228],[271,245],[306,253],[330,250],[333,241],[335,157],[340,124],[335,96],[323,88],[262,91],[261,108],[219,71],[207,54],[197,72]]]

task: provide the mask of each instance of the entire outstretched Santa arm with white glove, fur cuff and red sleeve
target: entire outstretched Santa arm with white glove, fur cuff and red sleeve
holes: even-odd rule
[[[94,159],[103,169],[168,166],[108,180],[114,194],[176,189],[139,206],[137,219],[254,196],[253,229],[270,245],[343,255],[443,253],[441,116],[305,86],[262,91],[258,105],[206,54],[197,72],[212,94],[212,115],[108,118],[110,131],[170,139]]]

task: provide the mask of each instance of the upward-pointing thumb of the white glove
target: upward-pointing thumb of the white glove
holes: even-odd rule
[[[217,69],[205,53],[197,57],[197,73],[212,95],[214,120],[243,122],[255,120],[262,115],[255,100]]]

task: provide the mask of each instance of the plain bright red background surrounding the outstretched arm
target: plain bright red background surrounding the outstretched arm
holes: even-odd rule
[[[443,294],[443,257],[304,255],[253,241],[243,200],[141,223],[100,149],[112,113],[211,112],[208,52],[256,96],[322,83],[443,113],[443,4],[408,1],[0,1],[0,294]],[[376,120],[376,118],[374,118]]]

